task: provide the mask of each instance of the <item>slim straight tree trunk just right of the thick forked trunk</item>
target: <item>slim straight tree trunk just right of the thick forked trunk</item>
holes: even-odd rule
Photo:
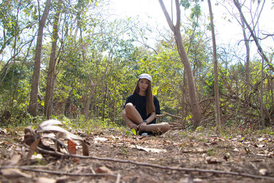
[[[217,51],[216,51],[216,40],[213,24],[213,14],[211,2],[208,0],[208,8],[210,10],[210,27],[212,34],[212,46],[213,46],[213,65],[214,65],[214,99],[215,99],[215,119],[216,119],[216,130],[220,132],[221,130],[221,113],[220,113],[220,97],[219,97],[219,82],[218,82],[218,61],[217,61]]]

